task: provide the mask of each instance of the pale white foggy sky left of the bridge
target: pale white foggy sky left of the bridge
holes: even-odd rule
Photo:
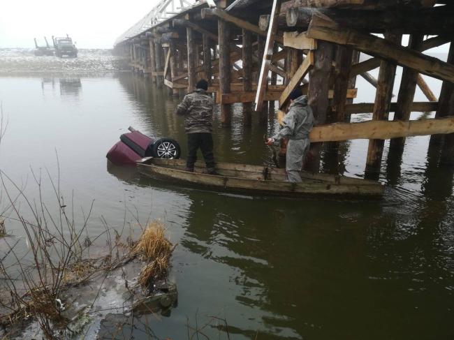
[[[0,48],[34,47],[33,38],[69,34],[79,48],[112,48],[158,0],[0,0]]]

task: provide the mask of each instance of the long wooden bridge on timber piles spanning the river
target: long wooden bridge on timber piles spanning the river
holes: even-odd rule
[[[411,135],[432,135],[439,162],[454,165],[453,39],[449,0],[165,0],[119,37],[115,50],[172,94],[205,78],[223,126],[230,126],[233,103],[242,103],[245,125],[253,114],[268,119],[268,101],[279,101],[281,119],[290,92],[300,87],[317,121],[308,170],[318,171],[322,142],[336,149],[339,141],[362,138],[369,140],[366,175],[374,177],[384,140],[402,154]],[[446,62],[424,54],[447,43]],[[360,52],[372,58],[360,61]],[[403,75],[393,103],[397,65]],[[374,68],[378,79],[369,73]],[[439,98],[420,74],[443,81]],[[376,87],[374,103],[353,103],[358,75]],[[416,87],[426,102],[413,102]],[[410,121],[413,111],[436,115]],[[372,121],[350,123],[358,113],[371,113]]]

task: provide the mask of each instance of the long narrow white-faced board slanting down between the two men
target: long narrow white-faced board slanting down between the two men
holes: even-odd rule
[[[277,17],[279,16],[280,8],[281,0],[273,0],[270,27],[268,28],[268,34],[266,36],[265,52],[263,53],[262,66],[257,83],[256,106],[254,108],[256,111],[261,111],[263,108],[263,96],[265,95],[265,85],[268,82],[268,70],[271,65],[272,47],[277,32]]]

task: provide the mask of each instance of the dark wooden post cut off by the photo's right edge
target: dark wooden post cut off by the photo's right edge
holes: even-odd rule
[[[448,63],[454,64],[454,42],[449,47]],[[454,84],[452,82],[443,82],[439,98],[439,110],[437,117],[446,117],[454,115]],[[434,136],[432,136],[434,138]],[[445,135],[443,147],[441,148],[440,163],[454,165],[454,133]]]

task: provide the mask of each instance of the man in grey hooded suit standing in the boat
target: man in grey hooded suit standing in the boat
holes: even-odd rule
[[[288,139],[286,154],[286,172],[288,182],[301,182],[300,171],[302,162],[309,151],[309,132],[314,126],[314,114],[307,105],[307,96],[302,95],[301,89],[295,89],[290,94],[290,110],[282,121],[282,128],[266,145],[272,145],[283,138]]]

